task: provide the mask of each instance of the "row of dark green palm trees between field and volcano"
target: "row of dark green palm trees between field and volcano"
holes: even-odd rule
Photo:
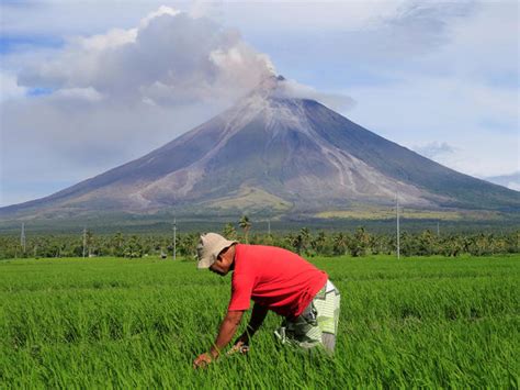
[[[238,222],[226,224],[222,234],[229,239],[241,243],[280,246],[302,256],[340,256],[353,257],[396,254],[395,235],[374,234],[364,227],[351,232],[312,232],[302,227],[298,232],[251,234],[252,223],[247,216]],[[24,257],[93,257],[114,256],[138,258],[144,256],[177,256],[194,259],[200,233],[172,235],[137,235],[117,232],[112,235],[95,234],[84,231],[75,235],[31,235],[25,242],[20,237],[0,236],[0,258]],[[430,230],[420,233],[406,231],[399,236],[402,256],[459,256],[463,254],[483,256],[490,254],[520,253],[520,230],[512,233],[463,234],[450,233],[439,235]]]

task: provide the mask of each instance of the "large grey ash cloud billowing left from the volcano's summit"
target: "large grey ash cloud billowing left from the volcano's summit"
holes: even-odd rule
[[[237,31],[161,7],[129,30],[69,40],[52,62],[19,75],[25,88],[75,90],[117,102],[178,105],[233,100],[273,73]]]

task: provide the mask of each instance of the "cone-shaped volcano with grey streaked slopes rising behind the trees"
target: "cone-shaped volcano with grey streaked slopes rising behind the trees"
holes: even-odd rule
[[[315,213],[389,207],[519,211],[519,192],[385,140],[270,77],[151,153],[0,216]]]

